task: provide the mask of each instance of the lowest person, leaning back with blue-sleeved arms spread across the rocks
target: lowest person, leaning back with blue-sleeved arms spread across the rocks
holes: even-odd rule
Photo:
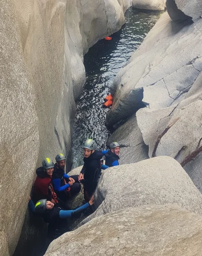
[[[94,197],[91,197],[88,203],[75,210],[63,210],[47,199],[40,199],[34,204],[30,197],[28,205],[33,214],[39,215],[46,223],[49,223],[48,237],[55,239],[66,231],[69,231],[66,219],[79,218],[81,213],[85,212],[92,204],[94,204]]]

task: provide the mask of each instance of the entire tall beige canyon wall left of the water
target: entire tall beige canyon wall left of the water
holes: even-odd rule
[[[74,99],[85,83],[83,53],[121,28],[123,11],[130,4],[130,0],[0,3],[4,205],[0,226],[10,254],[18,243],[36,163],[38,167],[44,157],[54,159],[60,152],[71,163]]]

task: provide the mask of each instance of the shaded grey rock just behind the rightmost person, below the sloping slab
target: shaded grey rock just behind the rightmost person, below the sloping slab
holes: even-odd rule
[[[136,115],[111,134],[107,145],[113,141],[118,141],[120,150],[120,164],[131,164],[148,158],[148,147],[142,138],[141,131],[137,124]]]

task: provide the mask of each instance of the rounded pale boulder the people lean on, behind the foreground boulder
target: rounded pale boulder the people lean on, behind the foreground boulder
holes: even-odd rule
[[[82,223],[129,206],[170,203],[202,214],[202,195],[173,158],[161,156],[115,166],[100,178],[95,194],[98,208]]]

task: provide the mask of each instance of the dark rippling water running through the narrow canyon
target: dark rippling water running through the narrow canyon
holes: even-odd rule
[[[87,138],[97,142],[97,149],[106,148],[110,131],[104,125],[108,109],[102,108],[104,98],[120,68],[129,60],[161,12],[128,9],[126,23],[112,41],[102,39],[84,57],[86,84],[77,102],[73,127],[73,168],[83,164],[82,146]]]

